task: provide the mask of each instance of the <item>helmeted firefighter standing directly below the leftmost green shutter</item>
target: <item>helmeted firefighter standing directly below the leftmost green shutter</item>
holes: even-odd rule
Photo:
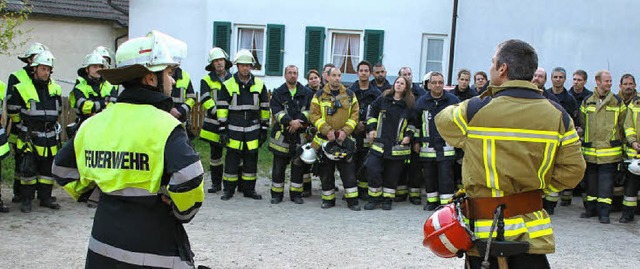
[[[200,93],[202,94],[200,104],[205,111],[200,138],[208,141],[211,149],[209,155],[211,188],[207,192],[217,193],[222,190],[222,151],[224,145],[220,142],[220,133],[218,132],[220,123],[216,115],[216,101],[222,83],[231,78],[229,68],[232,64],[227,52],[218,47],[209,50],[208,62],[204,69],[209,71],[209,74],[204,75],[200,80]]]

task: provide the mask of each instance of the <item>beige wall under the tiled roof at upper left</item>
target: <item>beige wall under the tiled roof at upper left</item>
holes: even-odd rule
[[[126,29],[115,28],[109,21],[42,16],[30,17],[20,28],[29,32],[19,40],[28,41],[10,55],[0,55],[0,79],[6,83],[11,73],[24,66],[17,55],[33,42],[40,42],[47,45],[56,57],[52,77],[62,86],[63,95],[68,95],[73,89],[78,77],[76,71],[85,55],[97,46],[105,46],[115,53],[115,39],[126,34]]]

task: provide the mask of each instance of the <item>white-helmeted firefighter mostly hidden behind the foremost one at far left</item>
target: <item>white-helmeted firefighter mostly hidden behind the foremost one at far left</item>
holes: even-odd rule
[[[15,71],[9,75],[9,80],[7,81],[6,87],[6,96],[3,95],[5,101],[9,99],[10,94],[12,93],[11,89],[18,83],[29,82],[31,81],[31,77],[33,77],[33,67],[31,67],[31,63],[33,62],[33,58],[40,52],[45,50],[49,50],[47,46],[35,42],[29,46],[29,48],[20,56],[18,59],[24,62],[26,65],[22,67],[22,69]],[[8,109],[7,109],[8,112]],[[19,169],[20,161],[22,160],[22,155],[20,151],[16,148],[16,141],[18,140],[18,127],[16,126],[16,122],[11,121],[11,117],[8,118],[7,129],[10,129],[11,132],[9,134],[9,146],[13,151],[14,156],[14,175],[13,175],[13,198],[11,202],[20,203],[22,198],[20,197],[20,175]],[[54,197],[55,199],[55,197]]]

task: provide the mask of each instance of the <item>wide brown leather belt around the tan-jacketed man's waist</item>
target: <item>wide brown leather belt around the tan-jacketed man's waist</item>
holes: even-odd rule
[[[469,198],[462,206],[463,214],[471,219],[493,219],[496,207],[504,204],[505,218],[542,210],[542,191],[533,190],[505,197]]]

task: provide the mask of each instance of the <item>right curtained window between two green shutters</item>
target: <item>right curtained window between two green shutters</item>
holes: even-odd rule
[[[362,43],[360,32],[333,32],[331,33],[331,63],[344,74],[356,74],[356,66],[360,62],[360,44]]]

